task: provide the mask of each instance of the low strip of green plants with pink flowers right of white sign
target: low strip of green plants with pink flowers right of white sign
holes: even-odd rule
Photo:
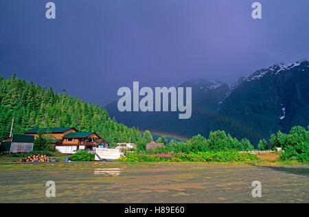
[[[246,162],[258,160],[258,157],[249,153],[238,152],[198,152],[176,154],[145,154],[128,153],[126,157],[117,159],[122,162]]]

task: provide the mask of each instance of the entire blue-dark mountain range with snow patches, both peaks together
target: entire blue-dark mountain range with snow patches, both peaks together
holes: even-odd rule
[[[309,125],[308,61],[273,65],[228,84],[206,80],[187,81],[192,87],[192,117],[178,119],[178,112],[124,112],[117,102],[106,110],[118,122],[156,133],[207,137],[211,130],[225,130],[233,137],[247,137],[255,144],[271,133],[295,125]]]

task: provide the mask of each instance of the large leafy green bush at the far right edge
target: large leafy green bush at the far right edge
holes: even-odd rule
[[[271,147],[281,147],[281,159],[297,159],[298,161],[309,161],[309,127],[294,126],[289,134],[278,132],[271,135]]]

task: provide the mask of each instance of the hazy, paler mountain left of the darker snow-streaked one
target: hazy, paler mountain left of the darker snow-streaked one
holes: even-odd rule
[[[192,87],[192,117],[179,119],[179,112],[119,112],[117,102],[108,104],[105,109],[117,121],[126,123],[127,126],[139,126],[139,129],[152,130],[152,133],[176,134],[180,137],[191,137],[198,131],[201,116],[207,121],[218,112],[218,102],[225,97],[229,86],[224,83],[214,83],[205,80],[187,81],[179,87]]]

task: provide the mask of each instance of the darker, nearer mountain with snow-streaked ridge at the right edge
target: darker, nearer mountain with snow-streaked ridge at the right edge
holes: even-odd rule
[[[295,125],[309,124],[309,69],[308,61],[273,65],[255,71],[244,78],[222,101],[219,116],[231,135],[249,134],[257,141],[277,130],[288,132]],[[248,130],[233,128],[233,122]]]

